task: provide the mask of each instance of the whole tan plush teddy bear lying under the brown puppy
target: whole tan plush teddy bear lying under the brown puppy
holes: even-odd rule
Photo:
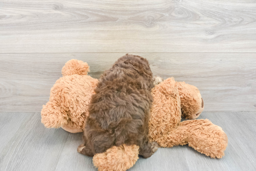
[[[46,127],[82,132],[90,96],[97,85],[97,79],[87,76],[87,72],[88,64],[77,60],[68,61],[62,68],[63,77],[56,81],[50,100],[41,111]],[[152,95],[151,141],[161,147],[188,144],[207,156],[224,156],[228,138],[222,128],[207,119],[181,122],[181,116],[196,119],[204,109],[203,99],[195,86],[168,78],[152,89]],[[99,171],[127,170],[138,160],[138,154],[138,146],[123,144],[94,155],[93,162]]]

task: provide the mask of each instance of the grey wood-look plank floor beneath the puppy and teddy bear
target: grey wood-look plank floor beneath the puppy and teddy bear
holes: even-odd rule
[[[148,159],[140,157],[129,171],[256,170],[256,113],[204,112],[198,119],[205,118],[222,127],[228,136],[223,158],[207,157],[188,145],[159,148]],[[1,171],[97,171],[91,157],[77,152],[82,133],[47,129],[40,120],[40,113],[0,113],[0,144],[5,144],[0,151]]]

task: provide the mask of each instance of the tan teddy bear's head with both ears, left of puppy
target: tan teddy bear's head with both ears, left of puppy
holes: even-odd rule
[[[50,99],[43,105],[41,121],[47,128],[62,127],[68,132],[83,132],[88,116],[88,104],[98,80],[87,75],[86,62],[70,60],[62,68],[62,75],[50,91]]]

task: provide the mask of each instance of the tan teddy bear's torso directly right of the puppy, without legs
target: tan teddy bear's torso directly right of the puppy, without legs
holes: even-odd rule
[[[154,101],[150,109],[148,126],[150,141],[155,141],[171,132],[170,130],[175,129],[180,123],[181,101],[173,78],[168,78],[156,85],[151,94]]]

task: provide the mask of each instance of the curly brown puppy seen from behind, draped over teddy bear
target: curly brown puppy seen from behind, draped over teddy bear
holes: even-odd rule
[[[144,158],[154,154],[158,144],[148,139],[154,81],[148,61],[140,56],[126,54],[106,70],[92,95],[78,152],[94,156],[112,146],[135,144]]]

